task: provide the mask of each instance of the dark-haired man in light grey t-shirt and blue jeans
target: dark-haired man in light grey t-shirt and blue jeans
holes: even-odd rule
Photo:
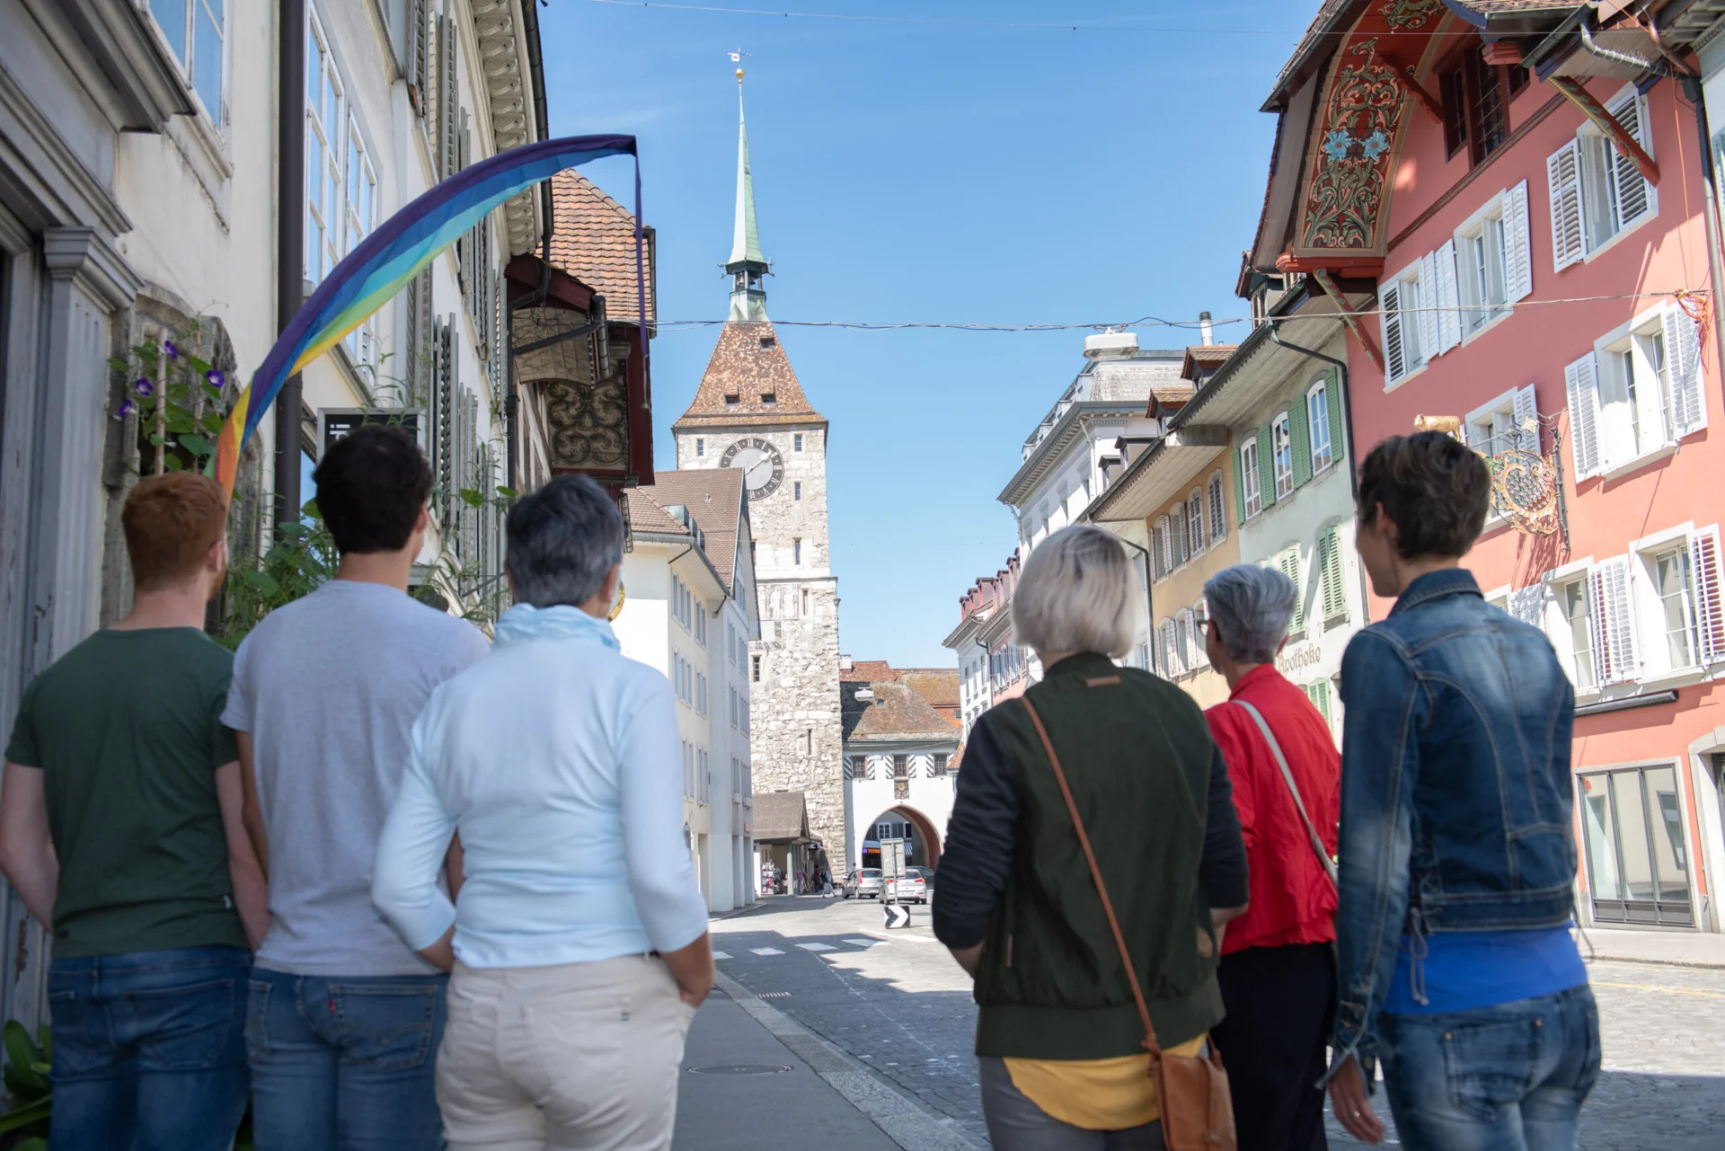
[[[436,1151],[447,977],[371,906],[371,868],[414,720],[486,640],[407,595],[431,492],[412,437],[361,428],[314,480],[336,578],[254,628],[223,713],[269,871],[247,1015],[255,1146]]]

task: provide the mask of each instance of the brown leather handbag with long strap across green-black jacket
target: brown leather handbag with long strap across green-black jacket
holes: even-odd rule
[[[1047,728],[1042,726],[1042,716],[1037,714],[1028,697],[1019,699],[1025,701],[1025,711],[1030,713],[1030,721],[1042,739],[1042,749],[1049,754],[1054,780],[1061,785],[1066,811],[1073,818],[1073,830],[1078,832],[1078,846],[1083,847],[1085,863],[1090,865],[1095,894],[1102,899],[1107,928],[1114,932],[1114,946],[1120,947],[1120,961],[1132,984],[1132,999],[1138,1004],[1138,1016],[1144,1020],[1144,1049],[1151,1053],[1151,1079],[1156,1080],[1156,1104],[1163,1115],[1163,1144],[1168,1151],[1235,1151],[1233,1098],[1228,1094],[1228,1072],[1221,1066],[1221,1054],[1216,1053],[1214,1042],[1209,1044],[1209,1058],[1170,1054],[1156,1042],[1151,1008],[1144,1003],[1144,989],[1138,987],[1138,972],[1132,966],[1126,937],[1120,932],[1114,904],[1102,884],[1102,870],[1095,865],[1090,837],[1083,830],[1083,820],[1078,818],[1073,789],[1066,783],[1066,771],[1061,770],[1061,759],[1054,754],[1054,744],[1049,740]]]

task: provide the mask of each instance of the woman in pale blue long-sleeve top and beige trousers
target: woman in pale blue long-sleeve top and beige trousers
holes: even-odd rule
[[[378,847],[378,909],[454,968],[436,1066],[452,1151],[671,1146],[712,949],[676,701],[605,623],[621,563],[623,518],[592,480],[514,506],[516,606],[414,725]],[[455,832],[459,906],[438,887]]]

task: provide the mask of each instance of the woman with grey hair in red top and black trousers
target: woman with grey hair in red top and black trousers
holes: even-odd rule
[[[1342,758],[1330,723],[1276,671],[1299,588],[1237,564],[1204,583],[1204,651],[1228,702],[1204,713],[1240,813],[1251,908],[1221,944],[1213,1035],[1228,1063],[1240,1151],[1321,1151],[1335,1013],[1335,825]],[[1314,842],[1316,840],[1316,842]]]

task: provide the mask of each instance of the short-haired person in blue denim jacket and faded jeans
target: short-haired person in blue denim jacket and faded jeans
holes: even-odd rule
[[[1342,659],[1330,1099],[1382,1139],[1359,1061],[1375,1037],[1404,1148],[1571,1151],[1599,1075],[1570,934],[1575,694],[1544,633],[1459,568],[1489,499],[1485,461],[1437,431],[1359,469],[1359,559],[1396,606]]]

